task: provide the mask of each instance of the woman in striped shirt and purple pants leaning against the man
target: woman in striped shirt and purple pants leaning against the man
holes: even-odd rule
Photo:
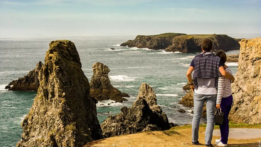
[[[227,61],[227,55],[225,52],[220,51],[216,54],[221,58],[224,68],[232,75],[231,69],[225,64]],[[217,146],[227,146],[228,133],[229,133],[229,121],[228,115],[233,103],[233,97],[231,92],[231,80],[225,77],[218,77],[218,89],[217,89],[217,109],[221,108],[224,113],[224,124],[220,126],[221,138],[217,139],[215,144]]]

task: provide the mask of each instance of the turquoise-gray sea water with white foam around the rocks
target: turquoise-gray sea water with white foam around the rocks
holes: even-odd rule
[[[190,124],[191,108],[179,105],[186,93],[186,71],[196,54],[166,53],[163,50],[150,50],[120,47],[119,44],[135,36],[69,37],[79,52],[82,70],[91,81],[92,65],[102,62],[110,68],[111,84],[128,93],[129,101],[111,103],[111,100],[97,104],[98,119],[103,122],[108,115],[120,112],[122,106],[131,106],[136,99],[141,83],[150,84],[157,95],[157,103],[167,114],[169,121]],[[36,92],[12,92],[4,87],[12,80],[26,75],[35,68],[44,56],[52,40],[43,39],[0,39],[0,147],[15,146],[21,138],[21,121],[29,112]],[[113,47],[115,50],[110,50]],[[231,51],[228,54],[239,53]],[[232,66],[230,66],[232,65]],[[230,64],[236,73],[237,65]],[[102,105],[104,104],[104,105]],[[184,109],[186,113],[177,110]],[[205,120],[203,119],[202,122]]]

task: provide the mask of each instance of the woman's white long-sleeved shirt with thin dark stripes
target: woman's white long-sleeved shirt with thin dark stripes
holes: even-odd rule
[[[226,71],[232,75],[232,71],[229,67]],[[231,94],[231,80],[223,76],[218,77],[217,104],[221,103],[222,98],[227,98]]]

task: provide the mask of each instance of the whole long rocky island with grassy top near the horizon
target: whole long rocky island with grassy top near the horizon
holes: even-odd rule
[[[165,49],[166,52],[197,53],[201,52],[201,41],[210,39],[213,42],[213,51],[238,50],[239,39],[227,35],[187,35],[182,33],[164,33],[159,35],[138,35],[134,40],[128,40],[121,46],[149,48],[154,50]]]

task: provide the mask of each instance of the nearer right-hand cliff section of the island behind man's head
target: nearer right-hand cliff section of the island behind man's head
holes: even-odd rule
[[[166,52],[196,53],[201,52],[201,41],[210,39],[213,42],[213,51],[238,50],[238,41],[227,35],[181,35],[173,38],[172,44],[165,49]]]

